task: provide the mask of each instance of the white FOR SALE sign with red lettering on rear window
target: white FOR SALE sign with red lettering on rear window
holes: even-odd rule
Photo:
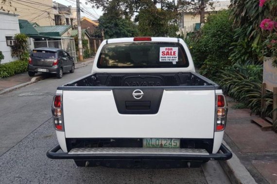
[[[160,62],[173,62],[176,64],[178,61],[178,47],[160,47]]]

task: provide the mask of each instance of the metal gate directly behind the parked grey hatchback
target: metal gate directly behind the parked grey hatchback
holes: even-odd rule
[[[77,55],[75,49],[74,39],[61,39],[61,40],[46,40],[46,41],[34,41],[34,48],[39,47],[54,47],[66,50],[70,56],[73,56],[73,60],[77,62]]]

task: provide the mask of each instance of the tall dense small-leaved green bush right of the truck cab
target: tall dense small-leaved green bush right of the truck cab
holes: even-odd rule
[[[190,35],[190,50],[195,66],[200,73],[213,79],[220,69],[229,65],[229,47],[233,42],[230,12],[221,11],[209,15],[204,27]]]

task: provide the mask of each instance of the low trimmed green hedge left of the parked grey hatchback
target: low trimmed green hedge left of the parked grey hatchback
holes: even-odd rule
[[[28,71],[28,61],[13,61],[0,65],[0,78]]]

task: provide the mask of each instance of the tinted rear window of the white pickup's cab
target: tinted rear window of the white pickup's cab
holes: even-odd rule
[[[182,45],[177,43],[116,43],[105,45],[98,68],[169,68],[188,67]]]

